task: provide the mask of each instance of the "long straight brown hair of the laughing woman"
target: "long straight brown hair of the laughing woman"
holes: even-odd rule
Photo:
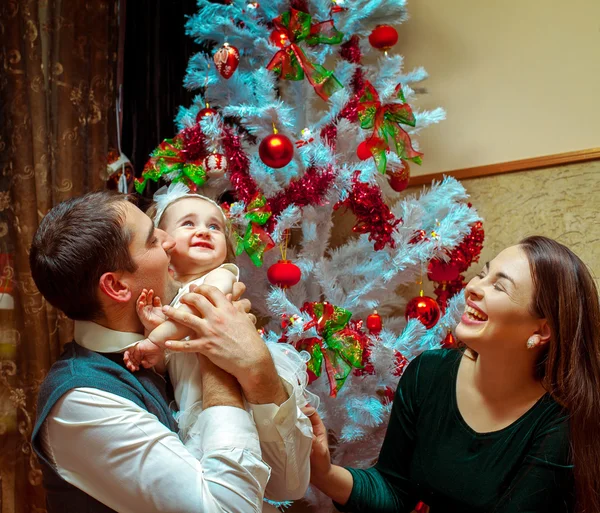
[[[534,284],[533,313],[552,337],[538,363],[544,387],[570,413],[577,513],[600,512],[600,302],[586,265],[546,237],[520,242]]]

